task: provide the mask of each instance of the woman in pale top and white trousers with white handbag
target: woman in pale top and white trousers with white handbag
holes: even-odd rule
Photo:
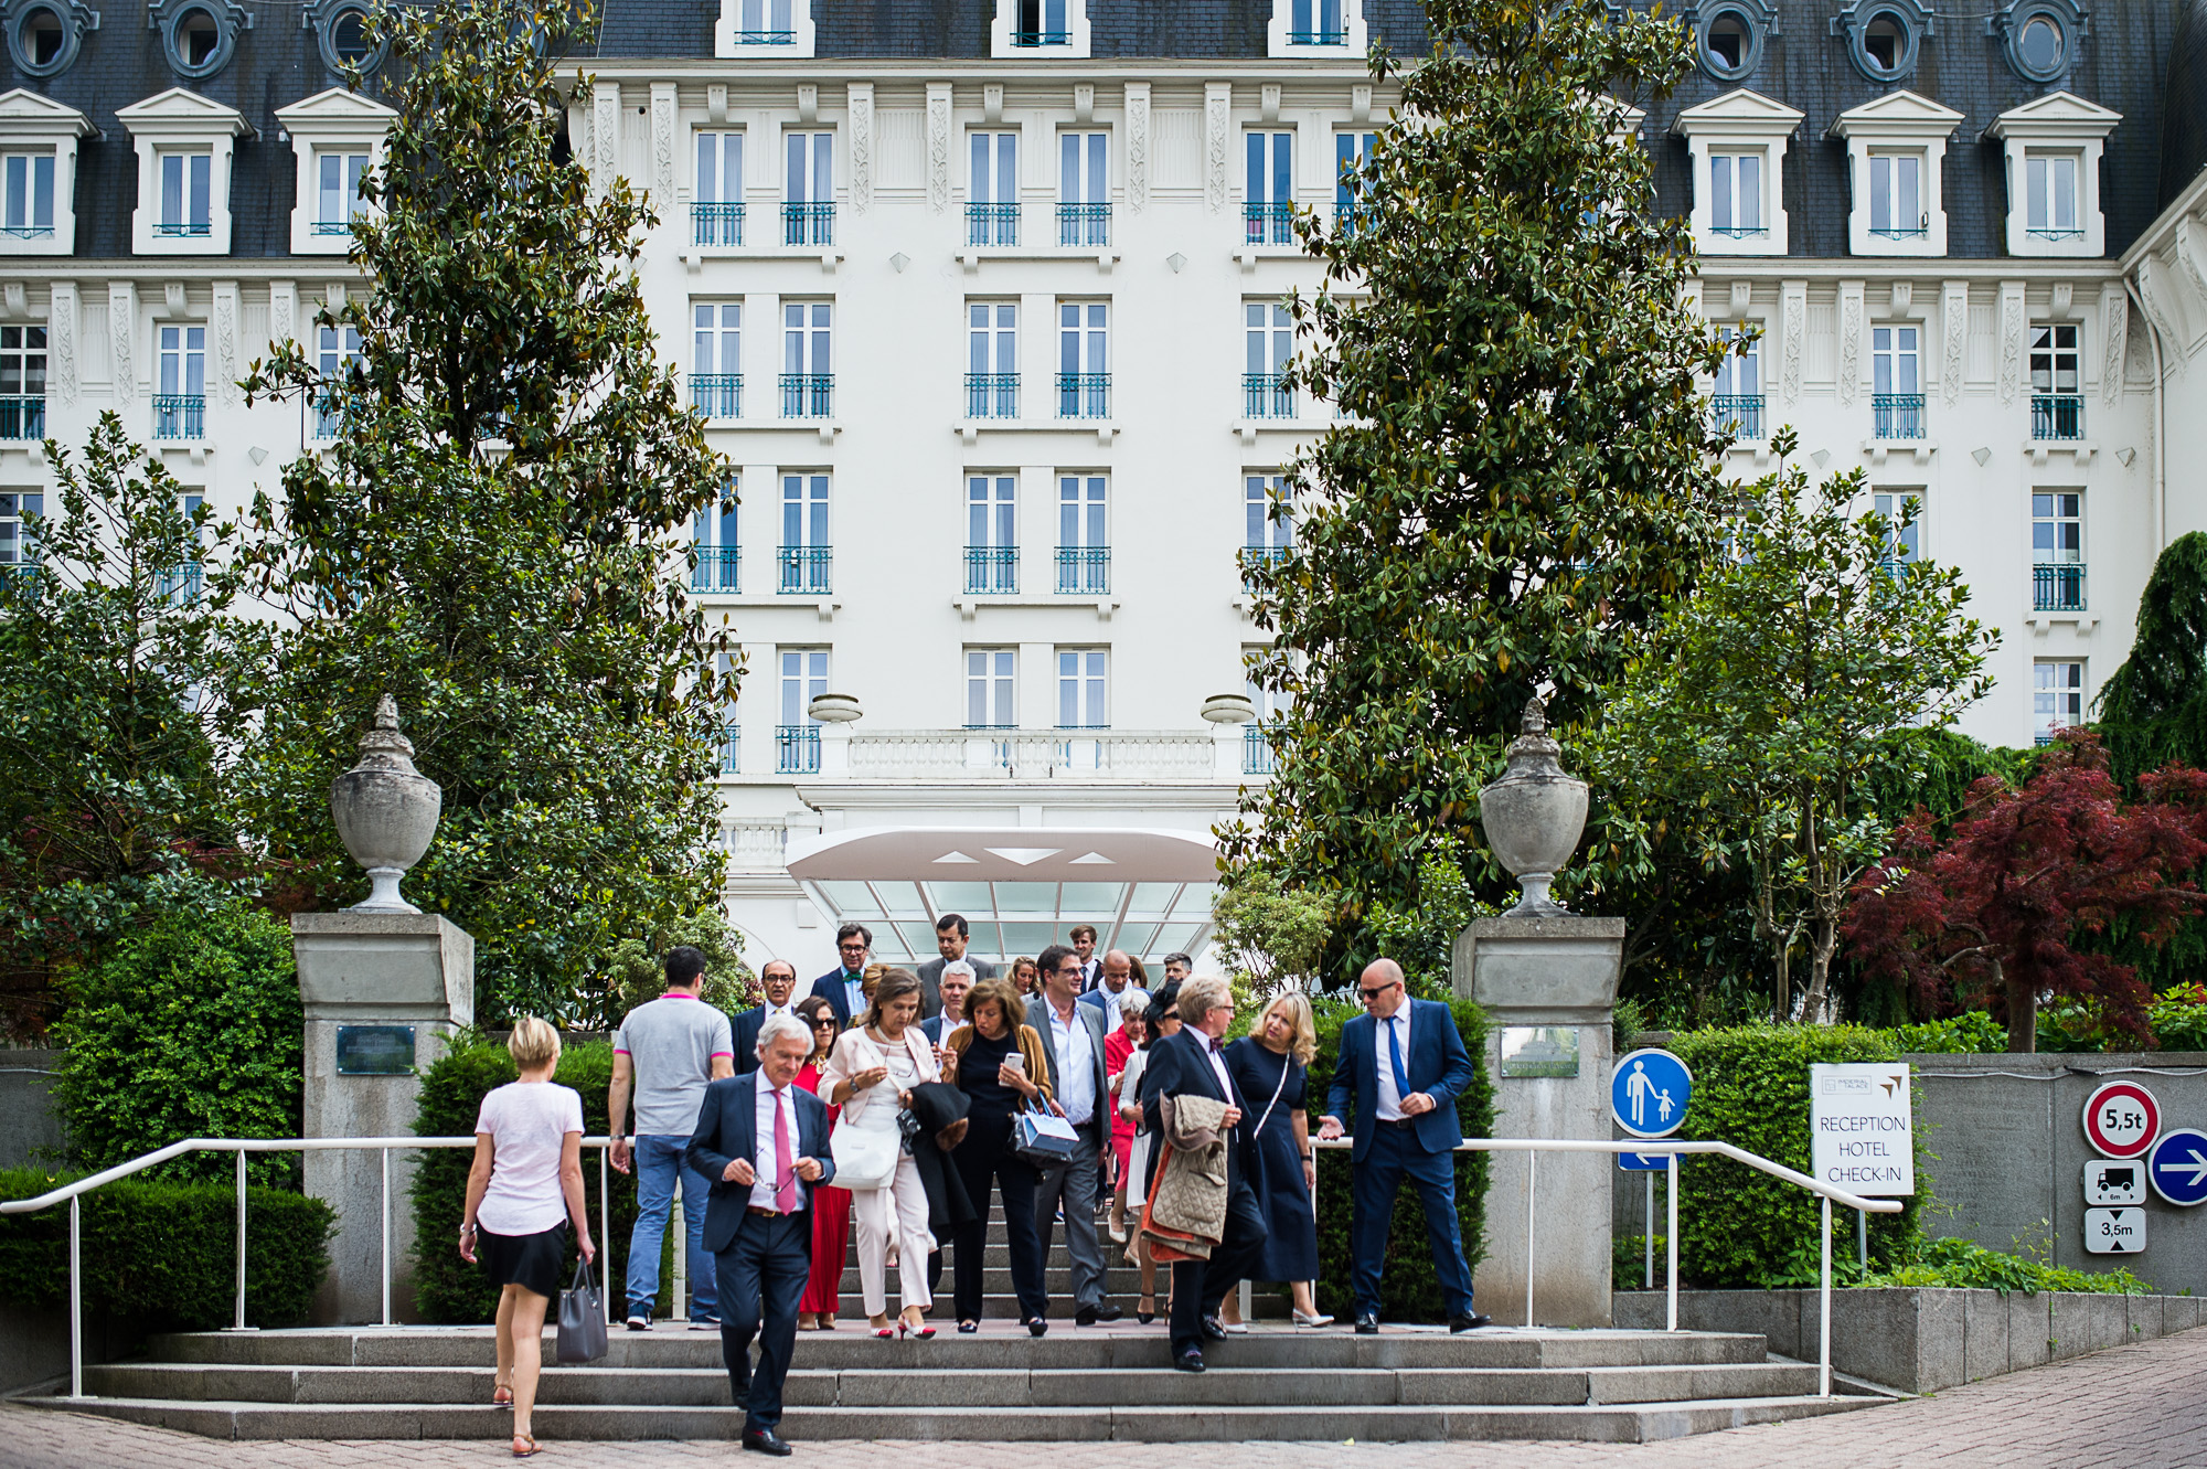
[[[942,1079],[918,1021],[920,977],[892,968],[874,986],[865,1017],[836,1037],[821,1072],[821,1101],[843,1109],[830,1151],[836,1184],[850,1189],[859,1224],[865,1317],[883,1341],[907,1332],[923,1341],[936,1334],[927,1323],[927,1308],[934,1306],[927,1255],[936,1237],[927,1229],[927,1191],[905,1151],[900,1120],[911,1107],[911,1087]],[[892,1262],[903,1301],[894,1323],[885,1282]]]

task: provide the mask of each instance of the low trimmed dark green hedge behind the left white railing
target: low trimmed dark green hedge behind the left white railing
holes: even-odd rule
[[[0,1171],[0,1198],[35,1198],[82,1173]],[[221,1184],[126,1178],[82,1200],[84,1315],[141,1330],[230,1326],[238,1195]],[[296,1326],[329,1270],[335,1211],[285,1189],[245,1189],[245,1321]],[[0,1215],[0,1299],[68,1301],[68,1204]]]

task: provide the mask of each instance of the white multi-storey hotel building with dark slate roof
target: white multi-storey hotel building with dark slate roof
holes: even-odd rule
[[[234,384],[360,289],[360,11],[0,0],[0,556],[35,441],[104,408],[225,510],[329,432]],[[2207,0],[1684,13],[1699,68],[1638,132],[1706,313],[1763,333],[1710,384],[1728,470],[1794,423],[1814,472],[1918,496],[1909,551],[2004,633],[1964,728],[2081,717],[2207,527]],[[664,353],[742,465],[695,593],[748,666],[753,959],[830,968],[843,918],[927,957],[942,911],[989,957],[1079,920],[1205,942],[1209,829],[1269,763],[1205,704],[1262,644],[1238,562],[1287,532],[1254,507],[1326,421],[1273,386],[1278,302],[1318,285],[1287,221],[1384,124],[1382,37],[1419,51],[1419,9],[609,0],[569,139],[651,194]]]

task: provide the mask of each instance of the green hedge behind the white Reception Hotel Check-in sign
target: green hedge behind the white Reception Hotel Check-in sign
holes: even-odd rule
[[[1673,1037],[1671,1050],[1693,1070],[1693,1109],[1680,1138],[1721,1140],[1810,1171],[1808,1068],[1819,1061],[1894,1061],[1894,1032],[1861,1026],[1739,1026]],[[1925,1140],[1916,1138],[1918,1162]],[[1680,1160],[1680,1279],[1702,1288],[1744,1288],[1783,1279],[1803,1242],[1814,1259],[1819,1200],[1790,1182],[1730,1158]],[[1900,1259],[1916,1237],[1929,1193],[1918,1169],[1916,1198],[1900,1213],[1869,1215],[1872,1259]],[[1832,1255],[1843,1251],[1845,1211],[1834,1211]]]

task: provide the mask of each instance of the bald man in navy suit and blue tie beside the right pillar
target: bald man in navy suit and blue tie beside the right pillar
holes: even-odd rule
[[[1472,1085],[1472,1054],[1463,1050],[1448,1006],[1410,999],[1395,959],[1373,959],[1357,982],[1357,995],[1364,999],[1364,1015],[1342,1026],[1342,1054],[1333,1065],[1326,1116],[1318,1127],[1320,1138],[1342,1136],[1342,1118],[1355,1103],[1348,1277],[1357,1334],[1379,1330],[1379,1266],[1386,1262],[1386,1231],[1404,1173],[1417,1184],[1417,1198],[1426,1207],[1426,1237],[1448,1301],[1448,1330],[1468,1332],[1488,1323],[1488,1317],[1472,1310],[1472,1266],[1463,1262],[1463,1235],[1457,1229],[1454,1147],[1463,1143],[1457,1096]]]

